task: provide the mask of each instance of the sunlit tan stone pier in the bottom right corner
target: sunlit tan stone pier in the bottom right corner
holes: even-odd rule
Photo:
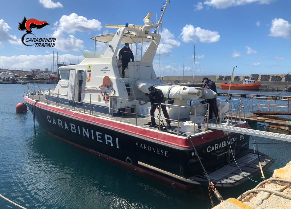
[[[285,179],[291,181],[291,161],[283,168],[274,171],[273,178]],[[291,196],[291,184],[276,180],[268,181],[260,187],[266,190],[276,191],[282,195]],[[238,197],[240,198],[240,197]],[[253,192],[243,197],[241,200],[229,198],[214,209],[289,209],[291,208],[291,199],[279,195],[270,194],[269,192]]]

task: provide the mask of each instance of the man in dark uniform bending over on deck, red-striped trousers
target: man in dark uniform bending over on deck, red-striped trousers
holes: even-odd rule
[[[151,106],[152,124],[150,125],[150,127],[154,127],[156,125],[155,110],[158,107],[158,104],[165,103],[165,97],[164,97],[163,92],[160,89],[156,89],[153,86],[148,87],[148,90],[150,91],[149,97],[150,97],[150,101],[152,102],[152,106]],[[167,128],[172,128],[171,120],[169,120],[170,117],[168,115],[166,105],[161,105],[161,108],[162,108],[165,118],[167,118],[166,119],[166,122],[168,123]]]

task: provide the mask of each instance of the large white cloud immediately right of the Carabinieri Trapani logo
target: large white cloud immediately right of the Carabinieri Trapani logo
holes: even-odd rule
[[[52,37],[56,37],[55,48],[62,51],[79,51],[84,48],[83,40],[76,38],[74,34],[76,31],[84,32],[91,30],[100,30],[102,28],[101,22],[96,19],[88,20],[83,16],[78,16],[76,13],[70,15],[63,15],[59,21],[54,23],[56,30]],[[72,33],[68,37],[63,33]]]

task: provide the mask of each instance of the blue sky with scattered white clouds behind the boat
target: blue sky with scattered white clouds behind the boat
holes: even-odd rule
[[[59,3],[58,3],[59,2]],[[113,33],[105,24],[143,25],[151,11],[156,20],[165,1],[2,1],[0,8],[0,68],[51,68],[52,52],[60,61],[76,63],[82,51],[94,50],[91,36]],[[289,0],[171,0],[163,18],[162,44],[156,55],[157,75],[192,75],[196,45],[197,75],[253,73],[284,74],[291,71],[291,1]],[[37,37],[57,37],[55,48],[24,46],[18,30],[23,17],[47,21],[34,29]],[[54,24],[55,23],[55,24]],[[79,23],[79,25],[78,25]],[[81,24],[83,23],[83,24]],[[99,49],[100,49],[100,45]]]

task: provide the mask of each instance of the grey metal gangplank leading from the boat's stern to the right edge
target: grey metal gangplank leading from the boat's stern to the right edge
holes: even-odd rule
[[[287,135],[287,134],[273,133],[273,132],[260,131],[260,130],[249,129],[249,128],[240,128],[240,127],[234,127],[231,125],[213,124],[213,123],[209,123],[208,128],[291,142],[291,135]]]

